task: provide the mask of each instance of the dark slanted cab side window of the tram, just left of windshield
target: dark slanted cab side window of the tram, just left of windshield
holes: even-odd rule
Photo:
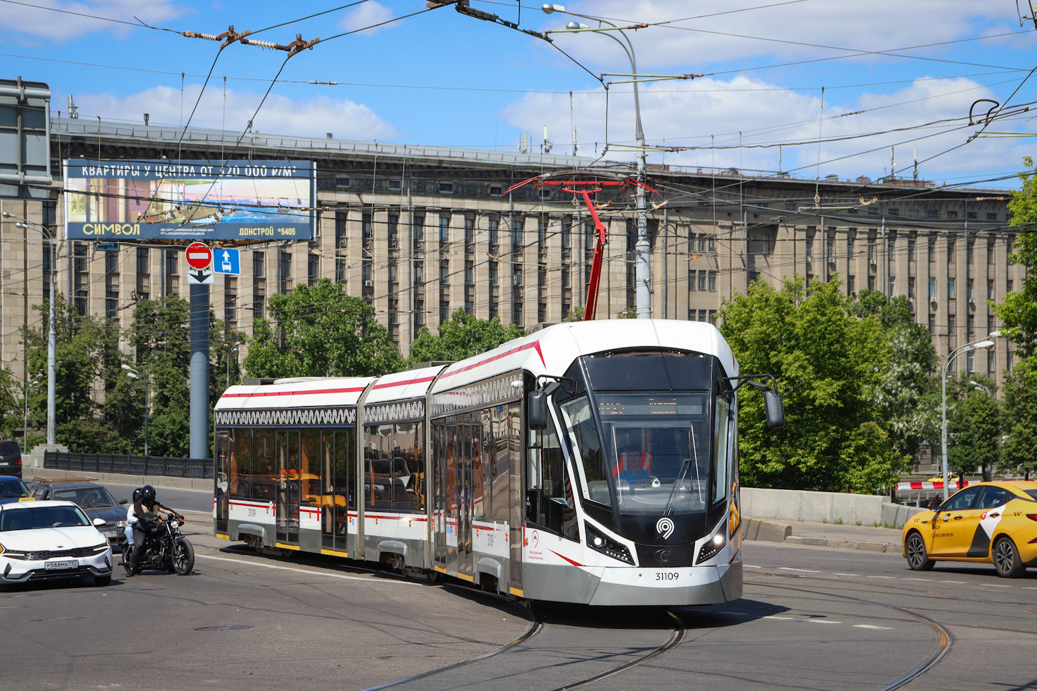
[[[572,488],[565,471],[565,457],[554,429],[530,431],[527,454],[530,460],[527,518],[549,530],[578,540],[580,529],[577,525]]]

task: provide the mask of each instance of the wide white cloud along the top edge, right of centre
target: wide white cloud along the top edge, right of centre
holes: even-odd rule
[[[723,3],[714,0],[584,0],[569,3],[567,8],[573,12],[615,18],[614,23],[619,26],[667,22],[727,9]],[[573,18],[552,15],[542,24],[542,28],[561,28],[570,19]],[[596,23],[586,19],[580,21],[596,26]],[[677,22],[670,25],[670,28],[649,27],[627,31],[626,34],[634,44],[642,70],[648,66],[669,66],[684,74],[709,71],[709,65],[727,60],[745,64],[747,59],[763,57],[797,60],[846,55],[844,51],[817,46],[882,51],[963,38],[994,30],[1018,31],[1018,26],[1013,26],[1016,21],[1008,5],[973,0],[871,0],[864,4],[807,0],[796,4]],[[833,30],[834,27],[844,30]],[[924,34],[919,33],[920,27],[924,27]],[[721,35],[722,33],[780,40],[760,40]],[[622,62],[625,56],[619,47],[600,34],[555,34],[554,39],[582,61],[614,68],[622,66],[621,71],[629,67],[628,63]],[[951,50],[953,47],[931,49],[930,54],[932,51]],[[925,54],[919,51],[912,53]],[[910,62],[916,63],[914,60]]]

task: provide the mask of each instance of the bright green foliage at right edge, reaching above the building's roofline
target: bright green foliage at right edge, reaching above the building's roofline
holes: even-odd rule
[[[1029,170],[1019,174],[1022,184],[1012,191],[1008,209],[1012,226],[1021,231],[1012,244],[1010,259],[1026,270],[1017,281],[1017,291],[1007,293],[1000,305],[992,300],[987,304],[1001,319],[1002,330],[1015,344],[1016,352],[1031,357],[1037,352],[1037,233],[1033,232],[1037,223],[1037,170],[1032,157],[1026,156],[1022,162]]]

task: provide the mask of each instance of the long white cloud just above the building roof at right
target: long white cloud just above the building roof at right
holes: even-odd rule
[[[608,141],[633,144],[633,94],[619,92],[618,88],[613,87],[609,98]],[[796,176],[812,178],[815,174],[822,177],[837,174],[842,178],[856,178],[863,174],[877,178],[889,170],[890,146],[896,145],[896,163],[900,170],[910,165],[915,147],[921,161],[964,142],[978,126],[936,134],[955,124],[968,123],[968,120],[959,120],[923,129],[832,141],[822,143],[819,152],[818,135],[822,139],[850,137],[966,117],[970,105],[981,97],[991,97],[989,89],[960,78],[919,79],[893,93],[863,93],[842,103],[830,91],[825,94],[824,120],[819,124],[821,102],[818,91],[794,91],[750,77],[706,78],[676,85],[662,82],[643,88],[641,114],[649,144],[696,147],[678,153],[651,154],[649,162],[777,171],[778,147],[755,148],[753,145],[783,143],[781,169],[798,169]],[[881,106],[891,107],[868,110]],[[567,93],[529,94],[505,108],[503,117],[513,127],[532,133],[535,144],[539,143],[540,133],[546,124],[550,138],[556,142],[553,152],[571,151]],[[572,118],[579,132],[580,154],[593,155],[595,144],[599,153],[607,141],[604,96],[574,94]],[[1002,122],[991,129],[1015,126]],[[1030,127],[1029,124],[1025,126]],[[803,141],[813,143],[793,144]],[[713,144],[716,149],[710,148]],[[943,179],[978,171],[1015,170],[1020,166],[1022,153],[1018,140],[977,139],[954,152],[922,164],[919,172],[921,177]],[[611,149],[608,157],[633,160],[634,155],[629,151]],[[910,171],[900,174],[909,176]]]

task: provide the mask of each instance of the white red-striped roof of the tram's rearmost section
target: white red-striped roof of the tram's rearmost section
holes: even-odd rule
[[[373,377],[295,377],[272,384],[231,386],[216,402],[217,410],[309,408],[356,405]]]

